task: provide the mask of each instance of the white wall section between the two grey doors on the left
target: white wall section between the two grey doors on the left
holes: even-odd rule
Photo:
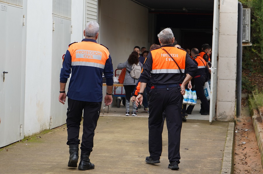
[[[49,129],[52,1],[27,1],[25,136]]]

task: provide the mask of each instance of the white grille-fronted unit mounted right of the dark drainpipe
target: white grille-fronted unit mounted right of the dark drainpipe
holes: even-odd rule
[[[243,8],[242,42],[250,42],[250,8]]]

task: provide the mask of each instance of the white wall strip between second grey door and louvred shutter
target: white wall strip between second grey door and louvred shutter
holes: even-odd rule
[[[71,43],[81,42],[83,38],[83,30],[84,30],[83,29],[83,0],[72,0],[71,25],[73,26],[73,32],[71,34]]]

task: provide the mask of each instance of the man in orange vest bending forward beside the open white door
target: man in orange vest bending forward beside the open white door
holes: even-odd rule
[[[208,73],[207,69],[207,64],[206,61],[199,55],[199,51],[197,48],[193,48],[191,50],[191,55],[193,58],[193,61],[196,63],[198,66],[198,71],[195,74],[194,78],[191,80],[192,86],[195,86],[193,90],[196,91],[197,97],[200,99],[202,103],[203,110],[201,112],[201,115],[209,115],[209,102],[207,101],[207,98],[205,97],[205,92],[204,92],[204,85],[206,82],[206,77],[205,74]],[[186,109],[187,114],[191,114],[193,111],[195,105],[190,105]]]

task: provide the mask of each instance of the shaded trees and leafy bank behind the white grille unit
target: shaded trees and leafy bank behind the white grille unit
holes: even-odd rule
[[[251,43],[243,47],[242,91],[263,91],[263,1],[240,0],[243,8],[251,9]]]

